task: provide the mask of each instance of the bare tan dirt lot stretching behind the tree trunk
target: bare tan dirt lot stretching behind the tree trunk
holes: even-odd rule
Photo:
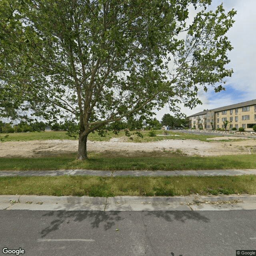
[[[228,140],[231,137],[221,137]],[[237,137],[235,137],[238,139]],[[219,140],[217,137],[216,140]],[[77,152],[78,141],[74,140],[31,140],[18,142],[0,142],[0,157],[36,157]],[[112,138],[109,142],[87,142],[88,152],[166,152],[180,150],[188,156],[220,156],[234,154],[251,154],[256,152],[256,140],[211,141],[199,140],[161,140],[156,142],[123,142],[122,138]],[[136,154],[135,154],[136,155]]]

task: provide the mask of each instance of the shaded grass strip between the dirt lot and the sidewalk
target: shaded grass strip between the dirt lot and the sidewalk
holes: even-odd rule
[[[255,154],[233,156],[183,156],[158,152],[143,157],[114,157],[104,154],[89,154],[85,161],[76,160],[76,154],[38,158],[0,158],[0,170],[214,170],[214,169],[255,169]],[[113,154],[114,155],[114,154]]]

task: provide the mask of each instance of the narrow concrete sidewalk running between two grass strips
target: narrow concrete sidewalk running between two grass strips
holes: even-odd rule
[[[256,169],[229,169],[229,170],[176,170],[176,171],[102,171],[102,170],[42,170],[42,171],[0,171],[0,177],[4,176],[62,176],[62,175],[90,175],[90,176],[238,176],[244,174],[256,175]]]

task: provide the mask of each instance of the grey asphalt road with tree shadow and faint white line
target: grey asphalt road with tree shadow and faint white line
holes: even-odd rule
[[[6,247],[25,256],[235,256],[256,250],[255,216],[256,210],[1,210],[1,253]]]

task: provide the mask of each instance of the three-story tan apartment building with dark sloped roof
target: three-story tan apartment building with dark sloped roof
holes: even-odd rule
[[[256,124],[256,99],[229,106],[204,110],[187,117],[190,128],[216,130],[224,128],[224,121],[228,121],[227,129],[242,127],[246,131],[252,131]]]

